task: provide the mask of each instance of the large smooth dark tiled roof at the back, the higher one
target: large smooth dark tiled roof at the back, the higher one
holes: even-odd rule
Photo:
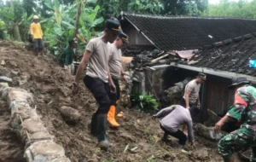
[[[256,20],[127,13],[122,16],[164,50],[198,49],[205,44],[256,32]]]

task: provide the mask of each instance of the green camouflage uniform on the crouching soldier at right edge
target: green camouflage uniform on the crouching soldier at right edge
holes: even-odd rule
[[[218,151],[223,157],[256,146],[256,89],[245,85],[236,90],[235,103],[226,114],[241,122],[238,130],[224,136],[218,142]]]

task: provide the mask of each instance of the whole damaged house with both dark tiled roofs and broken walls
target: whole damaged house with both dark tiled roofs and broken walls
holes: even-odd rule
[[[133,58],[133,84],[141,93],[154,95],[162,107],[177,103],[189,79],[205,72],[202,107],[223,115],[233,100],[227,89],[231,79],[246,75],[253,80],[256,71],[248,67],[248,59],[256,38],[248,33],[256,32],[256,20],[129,13],[119,19],[130,37],[123,54]]]

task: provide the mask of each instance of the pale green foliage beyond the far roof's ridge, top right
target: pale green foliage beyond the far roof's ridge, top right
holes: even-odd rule
[[[210,4],[203,16],[230,16],[241,18],[256,18],[256,0],[227,1],[221,0],[217,5]]]

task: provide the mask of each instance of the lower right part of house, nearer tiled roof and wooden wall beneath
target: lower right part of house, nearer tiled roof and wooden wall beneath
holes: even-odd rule
[[[234,102],[235,92],[229,90],[231,80],[246,77],[256,84],[256,32],[205,45],[187,62],[171,63],[182,72],[204,72],[207,81],[201,90],[204,117],[224,116]],[[209,113],[210,112],[210,113]],[[216,114],[214,114],[216,113]]]

